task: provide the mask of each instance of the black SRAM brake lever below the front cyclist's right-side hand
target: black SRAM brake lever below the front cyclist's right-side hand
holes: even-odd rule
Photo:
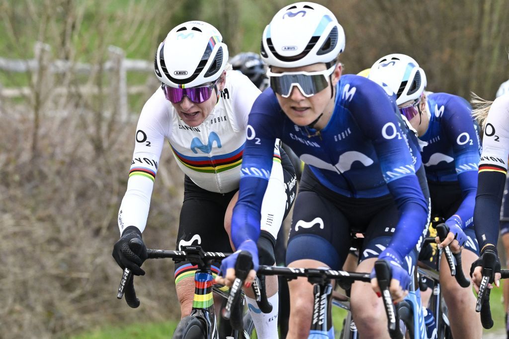
[[[398,310],[392,302],[389,286],[391,280],[391,272],[389,263],[385,260],[377,260],[375,262],[375,272],[377,275],[378,286],[382,294],[385,314],[387,315],[387,328],[391,339],[403,339],[400,331],[400,321],[398,319]]]

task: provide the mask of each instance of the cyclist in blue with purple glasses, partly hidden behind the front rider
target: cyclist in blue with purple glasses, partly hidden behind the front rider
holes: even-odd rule
[[[437,237],[437,242],[439,246],[450,245],[454,253],[461,252],[463,270],[468,276],[470,265],[479,253],[473,211],[480,142],[470,104],[455,95],[425,92],[425,72],[404,54],[378,59],[369,79],[396,96],[402,115],[416,131],[430,188],[431,213],[443,218],[449,228],[446,239],[441,242]],[[483,328],[471,290],[462,288],[450,275],[445,257],[440,272],[453,335],[480,338]]]

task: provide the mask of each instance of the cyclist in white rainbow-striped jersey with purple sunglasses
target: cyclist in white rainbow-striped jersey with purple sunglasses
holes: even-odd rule
[[[228,47],[221,34],[203,21],[176,26],[157,49],[154,68],[161,87],[139,117],[127,192],[119,210],[122,236],[113,251],[118,264],[136,275],[145,274],[139,266],[146,250],[136,255],[128,243],[142,239],[165,139],[185,174],[177,250],[195,244],[206,251],[232,252],[231,213],[238,196],[247,116],[260,90],[239,72],[226,70],[227,60]],[[292,205],[289,196],[295,194],[284,187],[284,182],[295,180],[295,171],[284,152],[279,156],[275,144],[274,175],[264,198],[258,242],[260,260],[269,265],[274,264],[275,237]],[[195,270],[188,262],[175,265],[182,317],[191,312]],[[214,270],[217,273],[217,267]],[[275,278],[267,279],[267,296],[274,306],[270,314],[261,313],[254,299],[248,297],[247,302],[258,336],[273,338],[277,333],[270,320],[277,316]]]

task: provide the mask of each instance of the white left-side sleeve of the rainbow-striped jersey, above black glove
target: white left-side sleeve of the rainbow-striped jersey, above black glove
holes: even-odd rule
[[[145,103],[136,127],[127,191],[118,215],[121,234],[128,226],[135,226],[143,232],[147,224],[159,158],[169,133],[168,114],[168,104],[159,88]]]

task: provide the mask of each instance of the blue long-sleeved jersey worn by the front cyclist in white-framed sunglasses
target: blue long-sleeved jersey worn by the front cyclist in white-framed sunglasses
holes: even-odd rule
[[[397,107],[379,85],[360,76],[342,76],[336,93],[330,120],[320,131],[295,125],[270,88],[254,103],[232,220],[236,246],[258,239],[276,138],[337,194],[353,198],[392,194],[402,217],[389,247],[404,257],[416,244],[426,224],[428,204],[415,176],[421,165],[419,150],[409,141]]]

